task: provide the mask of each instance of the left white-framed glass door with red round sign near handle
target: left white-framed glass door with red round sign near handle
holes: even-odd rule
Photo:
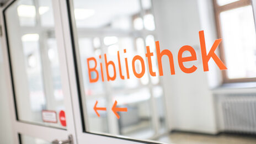
[[[60,15],[52,0],[3,9],[15,143],[76,143]]]

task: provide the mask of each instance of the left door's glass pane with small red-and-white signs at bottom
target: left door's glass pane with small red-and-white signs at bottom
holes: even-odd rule
[[[4,14],[18,120],[65,129],[52,1],[19,0]]]

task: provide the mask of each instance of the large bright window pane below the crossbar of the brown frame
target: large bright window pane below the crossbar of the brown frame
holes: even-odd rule
[[[256,35],[252,6],[222,12],[220,18],[228,78],[256,77]]]

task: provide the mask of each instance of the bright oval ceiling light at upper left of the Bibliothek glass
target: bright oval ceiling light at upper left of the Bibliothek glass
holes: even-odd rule
[[[74,9],[74,17],[76,20],[83,20],[92,17],[95,13],[94,9]]]

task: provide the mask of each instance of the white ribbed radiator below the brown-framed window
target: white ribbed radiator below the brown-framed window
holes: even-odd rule
[[[224,131],[256,134],[256,94],[223,95],[218,103]]]

